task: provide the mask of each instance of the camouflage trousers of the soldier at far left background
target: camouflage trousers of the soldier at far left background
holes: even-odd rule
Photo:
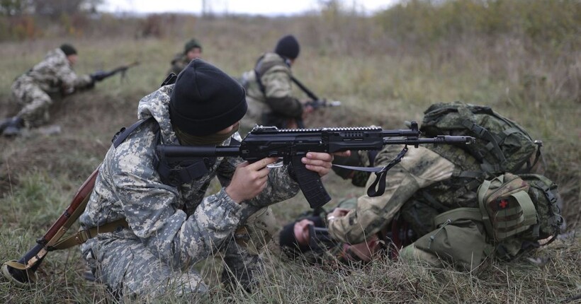
[[[18,117],[24,120],[26,127],[47,124],[52,99],[44,90],[32,81],[18,78],[12,85],[12,95],[16,103],[22,107]]]

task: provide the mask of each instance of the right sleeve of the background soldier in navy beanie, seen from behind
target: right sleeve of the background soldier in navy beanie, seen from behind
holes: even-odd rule
[[[288,69],[273,66],[261,77],[266,104],[272,112],[284,117],[300,117],[303,105],[292,95],[292,81]]]

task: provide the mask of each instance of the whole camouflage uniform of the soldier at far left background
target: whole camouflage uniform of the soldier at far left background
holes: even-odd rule
[[[16,78],[12,85],[14,100],[22,106],[18,117],[26,127],[38,127],[49,121],[49,94],[70,94],[74,90],[89,88],[94,81],[89,75],[77,76],[60,48],[48,52],[45,59],[30,71]]]

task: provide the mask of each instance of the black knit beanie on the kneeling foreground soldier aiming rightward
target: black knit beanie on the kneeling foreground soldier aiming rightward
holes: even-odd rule
[[[169,117],[188,134],[215,134],[246,114],[245,95],[234,78],[202,59],[193,59],[176,79]]]

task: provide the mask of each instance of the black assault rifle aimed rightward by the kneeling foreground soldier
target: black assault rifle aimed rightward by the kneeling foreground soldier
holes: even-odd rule
[[[335,153],[348,150],[381,150],[390,144],[405,144],[390,164],[383,168],[362,168],[342,166],[351,170],[376,173],[376,181],[367,193],[376,197],[385,191],[385,175],[407,152],[407,145],[419,144],[471,144],[470,136],[436,136],[420,138],[417,122],[410,129],[384,130],[380,127],[339,127],[320,129],[277,129],[276,127],[256,126],[247,134],[239,146],[174,146],[158,145],[157,153],[161,160],[188,161],[195,158],[215,158],[239,156],[250,163],[267,157],[282,158],[284,165],[291,164],[295,180],[309,202],[311,208],[327,204],[331,200],[323,187],[320,176],[305,168],[300,161],[308,152]],[[377,186],[377,189],[376,189]]]

